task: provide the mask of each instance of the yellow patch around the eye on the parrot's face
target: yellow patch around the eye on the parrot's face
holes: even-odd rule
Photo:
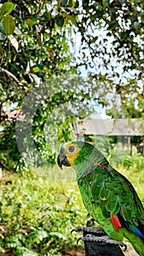
[[[77,145],[72,142],[64,143],[63,147],[69,164],[74,165],[75,159],[77,159],[80,153],[80,148],[78,148]]]

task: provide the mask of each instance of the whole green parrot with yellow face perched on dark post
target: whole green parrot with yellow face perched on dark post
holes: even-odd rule
[[[74,167],[83,203],[107,236],[127,238],[144,256],[144,208],[127,178],[94,145],[83,141],[64,143],[57,161],[61,169]]]

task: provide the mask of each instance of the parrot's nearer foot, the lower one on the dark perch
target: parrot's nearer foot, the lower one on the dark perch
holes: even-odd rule
[[[124,252],[126,251],[127,249],[127,246],[126,244],[124,244],[123,242],[121,241],[117,241],[117,240],[113,240],[111,239],[109,236],[94,236],[94,235],[86,235],[84,237],[80,237],[77,239],[77,244],[78,242],[82,240],[83,242],[101,242],[101,243],[104,243],[104,244],[117,244],[121,247],[124,247]]]

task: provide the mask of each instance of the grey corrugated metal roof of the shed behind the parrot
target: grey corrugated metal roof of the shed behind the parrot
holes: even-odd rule
[[[144,136],[144,122],[137,118],[83,119],[74,128],[77,135]]]

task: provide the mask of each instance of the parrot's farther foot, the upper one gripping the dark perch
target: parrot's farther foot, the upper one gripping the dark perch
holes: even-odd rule
[[[71,234],[72,234],[72,232],[80,232],[80,231],[83,231],[84,234],[86,233],[86,234],[95,235],[95,236],[106,235],[106,233],[102,229],[102,227],[77,227],[71,231]]]

